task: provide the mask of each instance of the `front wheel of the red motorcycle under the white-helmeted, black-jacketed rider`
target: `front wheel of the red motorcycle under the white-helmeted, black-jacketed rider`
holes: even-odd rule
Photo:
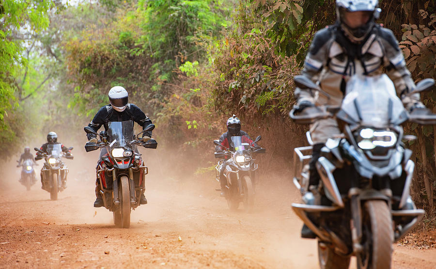
[[[113,212],[113,222],[119,228],[130,227],[130,188],[129,179],[123,175],[118,185],[120,208]]]

